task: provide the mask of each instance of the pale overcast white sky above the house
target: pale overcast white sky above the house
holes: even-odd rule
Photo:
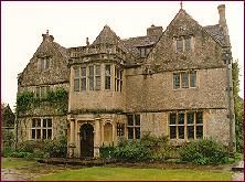
[[[226,22],[233,58],[239,61],[241,93],[244,95],[244,2],[189,1],[183,9],[201,25],[219,23],[217,6],[226,6]],[[178,13],[178,1],[108,2],[2,2],[1,1],[1,101],[15,105],[17,76],[32,58],[49,29],[65,47],[93,42],[105,24],[121,39],[143,36],[151,24],[163,30]]]

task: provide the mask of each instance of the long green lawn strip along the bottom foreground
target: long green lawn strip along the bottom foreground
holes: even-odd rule
[[[54,174],[49,174],[44,176],[39,176],[34,180],[41,181],[138,181],[138,180],[172,180],[172,181],[231,181],[232,173],[226,171],[201,171],[191,169],[131,169],[131,168],[106,168],[106,167],[95,167],[95,168],[84,168],[79,170],[70,170],[64,172],[58,172]]]

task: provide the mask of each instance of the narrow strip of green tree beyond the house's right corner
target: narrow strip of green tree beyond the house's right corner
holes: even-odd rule
[[[243,152],[243,98],[239,97],[239,65],[237,60],[232,64],[233,76],[233,94],[234,94],[234,109],[235,109],[235,131],[236,131],[236,150]]]

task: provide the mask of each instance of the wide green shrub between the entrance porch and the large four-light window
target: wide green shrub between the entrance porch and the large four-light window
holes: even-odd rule
[[[121,139],[118,146],[100,148],[100,157],[119,161],[167,160],[171,157],[172,147],[168,137],[143,136],[140,140]]]

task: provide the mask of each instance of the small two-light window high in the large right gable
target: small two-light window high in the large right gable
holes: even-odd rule
[[[191,51],[191,36],[175,39],[175,49],[178,53]]]

